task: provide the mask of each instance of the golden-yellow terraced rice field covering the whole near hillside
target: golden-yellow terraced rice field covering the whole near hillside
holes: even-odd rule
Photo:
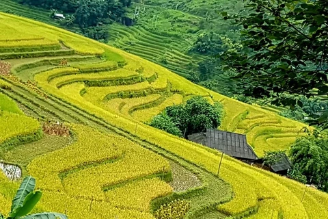
[[[305,186],[301,183],[226,155],[218,177],[221,153],[142,121],[163,110],[164,105],[181,103],[193,95],[206,96],[224,106],[219,128],[246,133],[258,154],[288,148],[301,135],[303,124],[234,101],[141,57],[68,31],[3,13],[0,20],[8,25],[8,34],[1,35],[5,39],[10,36],[15,41],[23,34],[36,38],[37,33],[61,45],[61,49],[35,47],[29,51],[25,50],[30,48],[28,43],[16,40],[20,47],[16,52],[0,52],[1,59],[12,64],[12,75],[0,76],[1,84],[10,87],[0,86],[1,94],[41,123],[55,118],[72,130],[74,141],[23,161],[26,174],[36,177],[38,188],[44,191],[39,211],[57,211],[69,218],[144,219],[154,218],[154,210],[180,198],[190,202],[185,218],[328,218],[327,194],[308,188],[303,196]],[[9,123],[12,127],[17,124]],[[20,133],[29,135],[39,127],[36,123],[33,130]],[[10,130],[0,131],[3,140],[20,135]],[[4,148],[1,158],[22,162],[10,156],[14,149]],[[33,150],[38,147],[32,146],[28,153]],[[177,182],[195,177],[197,183],[182,186],[184,181]],[[17,186],[0,174],[1,212],[10,211]],[[184,190],[175,192],[179,188]],[[128,197],[126,191],[130,192]]]

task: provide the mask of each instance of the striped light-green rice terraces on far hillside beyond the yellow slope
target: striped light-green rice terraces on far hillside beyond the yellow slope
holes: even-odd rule
[[[111,26],[110,34],[109,44],[161,64],[178,75],[186,76],[188,69],[197,68],[197,62],[204,60],[200,55],[185,54],[184,50],[190,46],[189,42],[153,34],[142,25],[124,27],[115,24]]]

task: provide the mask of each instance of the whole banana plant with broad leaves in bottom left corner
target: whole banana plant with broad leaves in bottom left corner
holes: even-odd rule
[[[40,201],[42,196],[40,190],[34,191],[35,188],[36,179],[31,176],[25,177],[12,201],[12,208],[8,218],[0,214],[0,219],[68,219],[66,215],[54,212],[27,215]]]

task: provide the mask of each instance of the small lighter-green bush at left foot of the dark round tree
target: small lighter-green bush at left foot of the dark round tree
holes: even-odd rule
[[[162,129],[167,133],[171,133],[174,136],[182,136],[180,129],[176,127],[176,123],[172,122],[171,118],[165,113],[154,116],[150,125],[157,129]]]

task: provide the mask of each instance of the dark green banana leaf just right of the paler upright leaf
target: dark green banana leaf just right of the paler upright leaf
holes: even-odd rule
[[[36,204],[40,201],[42,196],[41,191],[31,192],[29,193],[24,200],[23,206],[17,207],[10,213],[10,218],[20,218],[29,214],[29,212],[36,206]]]

